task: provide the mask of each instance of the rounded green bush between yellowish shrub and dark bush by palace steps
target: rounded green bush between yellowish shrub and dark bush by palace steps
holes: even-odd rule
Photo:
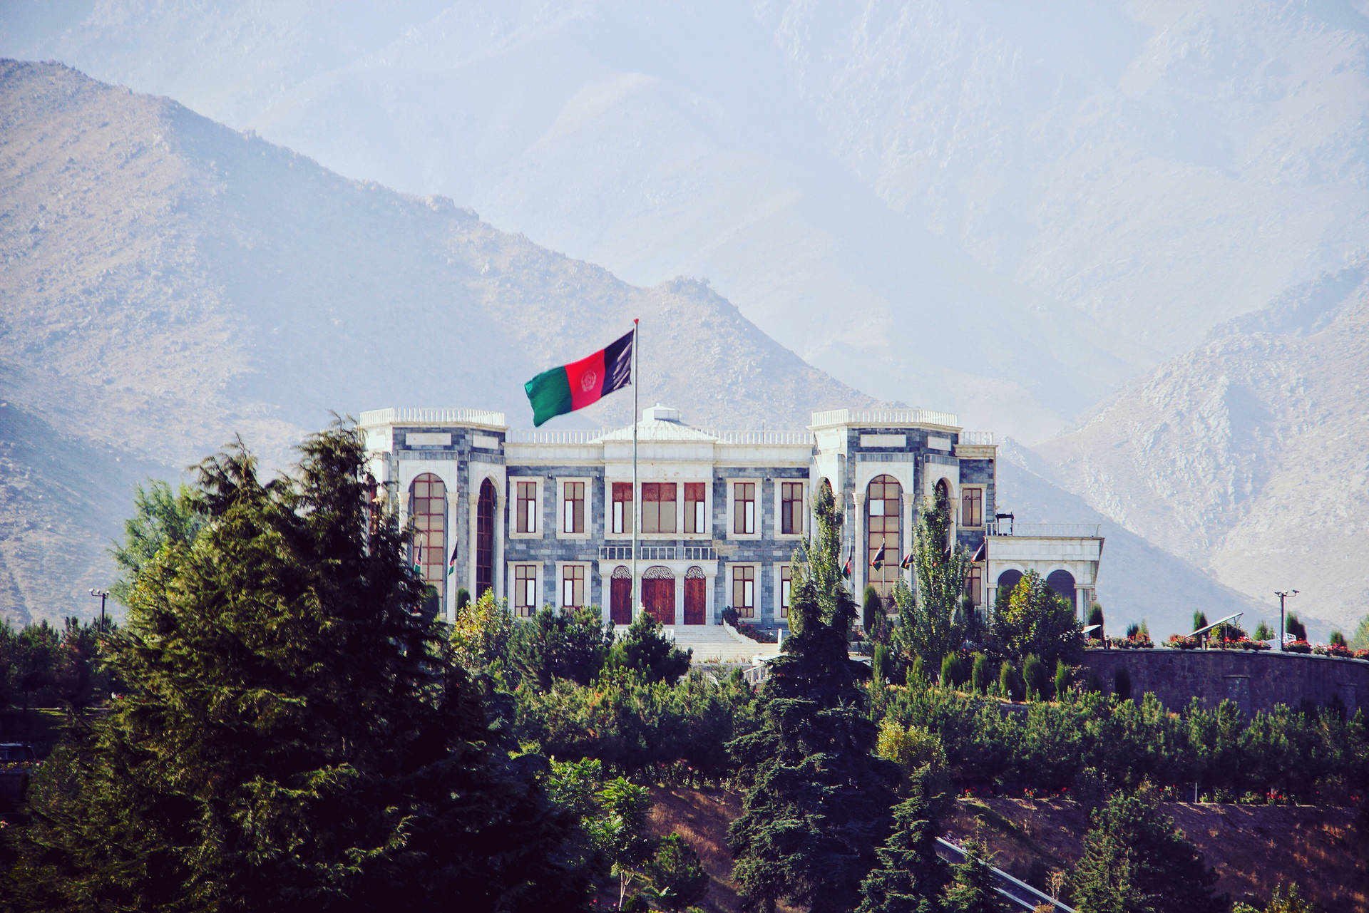
[[[613,627],[600,620],[598,609],[563,613],[543,608],[515,626],[509,664],[524,684],[541,691],[550,690],[556,679],[589,684],[612,646]]]

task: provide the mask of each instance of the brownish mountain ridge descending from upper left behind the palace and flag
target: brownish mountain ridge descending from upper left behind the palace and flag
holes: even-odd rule
[[[872,402],[705,285],[630,286],[57,64],[0,62],[0,198],[5,616],[62,615],[108,579],[148,467],[174,475],[234,433],[281,464],[333,409],[472,405],[526,426],[523,381],[634,316],[643,398],[693,423],[801,427]],[[617,396],[570,423],[630,413]]]

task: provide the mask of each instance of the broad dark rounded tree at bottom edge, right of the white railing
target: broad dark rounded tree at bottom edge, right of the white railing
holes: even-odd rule
[[[1080,913],[1221,913],[1217,873],[1160,812],[1154,791],[1117,793],[1095,809],[1072,887]]]

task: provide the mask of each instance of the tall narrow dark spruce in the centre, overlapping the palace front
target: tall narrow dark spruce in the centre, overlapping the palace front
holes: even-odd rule
[[[817,541],[791,584],[798,632],[771,663],[758,701],[760,728],[728,750],[745,790],[730,839],[746,909],[784,898],[815,913],[850,910],[888,834],[897,769],[872,754],[875,724],[847,654],[856,604],[839,569],[841,512],[820,489]]]

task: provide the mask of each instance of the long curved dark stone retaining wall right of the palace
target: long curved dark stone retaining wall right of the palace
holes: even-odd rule
[[[1105,691],[1112,691],[1117,669],[1131,678],[1131,694],[1154,691],[1165,706],[1180,709],[1194,697],[1216,708],[1229,698],[1247,713],[1296,708],[1305,698],[1331,704],[1335,698],[1351,713],[1369,712],[1369,661],[1340,660],[1279,652],[1246,650],[1090,650],[1084,665]]]

